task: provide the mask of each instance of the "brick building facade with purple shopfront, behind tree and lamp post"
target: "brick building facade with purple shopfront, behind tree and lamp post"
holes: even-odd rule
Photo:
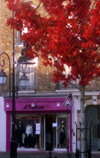
[[[12,61],[13,44],[15,59],[18,60],[23,47],[19,47],[18,32],[7,26],[11,12],[5,0],[0,1],[0,54],[6,52]],[[14,43],[13,43],[14,36]],[[4,57],[5,60],[7,60]],[[9,73],[8,65],[5,71]],[[11,63],[12,64],[12,63]],[[22,71],[17,68],[17,77]],[[32,73],[28,74],[29,85],[26,89],[18,86],[15,100],[15,130],[17,150],[56,150],[69,149],[76,152],[80,148],[80,92],[73,86],[66,89],[62,84],[52,82],[53,68],[45,67],[42,59],[35,60]],[[17,81],[16,77],[16,81]],[[12,83],[12,82],[11,82]],[[77,84],[77,83],[76,83]],[[0,97],[0,151],[10,150],[12,128],[12,98],[9,98],[9,83],[1,87]],[[18,83],[16,82],[16,87]],[[11,87],[12,91],[12,87]],[[99,79],[86,87],[85,111],[87,123],[87,148],[90,140],[93,151],[100,150],[100,85]],[[96,129],[95,132],[93,129]],[[91,132],[91,138],[89,137]]]

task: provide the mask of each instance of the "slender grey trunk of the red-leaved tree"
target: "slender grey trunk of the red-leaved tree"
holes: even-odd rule
[[[81,86],[81,99],[80,99],[80,151],[81,151],[81,158],[85,158],[86,154],[86,130],[85,130],[85,108],[84,108],[84,104],[85,104],[85,98],[84,98],[84,91],[85,91],[85,87]]]

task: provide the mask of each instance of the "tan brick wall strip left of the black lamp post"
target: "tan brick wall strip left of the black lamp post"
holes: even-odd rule
[[[0,13],[1,13],[1,19],[0,19],[0,53],[6,52],[10,56],[10,60],[12,60],[12,30],[10,26],[7,26],[7,18],[11,16],[10,11],[7,8],[7,3],[5,0],[0,0]],[[4,71],[9,73],[9,62],[7,59],[7,56],[1,56],[1,64],[2,59],[6,61]],[[8,81],[7,81],[8,82]],[[3,91],[7,91],[8,89],[8,83],[7,87],[4,86]]]

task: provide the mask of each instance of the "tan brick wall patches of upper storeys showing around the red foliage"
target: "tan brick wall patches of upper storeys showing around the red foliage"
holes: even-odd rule
[[[0,0],[0,7],[1,7],[1,18],[0,18],[0,34],[1,34],[1,45],[0,45],[0,52],[6,52],[11,58],[12,61],[12,52],[13,52],[13,30],[10,26],[7,26],[7,18],[12,16],[12,13],[7,8],[7,3],[5,0]],[[42,6],[41,6],[42,7]],[[39,11],[42,10],[39,7]],[[43,13],[41,13],[43,14]],[[20,55],[21,48],[16,49],[16,53]],[[5,57],[4,57],[5,58]],[[51,67],[45,67],[42,64],[42,59],[39,58],[39,64],[37,67],[37,91],[54,91],[55,84],[52,82],[52,70]],[[5,66],[5,71],[8,73],[8,62]],[[100,90],[100,80],[94,80],[91,82],[87,87],[86,90],[92,91]]]

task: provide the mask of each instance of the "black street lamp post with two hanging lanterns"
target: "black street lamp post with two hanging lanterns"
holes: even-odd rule
[[[12,97],[12,133],[11,133],[11,141],[10,141],[10,158],[17,158],[17,139],[15,135],[15,61],[14,61],[14,52],[13,52],[13,67],[12,67],[12,83],[11,83],[11,63],[10,63],[10,58],[7,53],[3,52],[0,55],[1,56],[6,55],[9,61],[9,96]],[[21,56],[23,58],[23,55]],[[7,62],[7,61],[6,61]],[[0,71],[0,85],[5,85],[7,81],[7,75],[3,70],[3,67],[6,65],[5,60],[2,60],[0,63],[1,66],[1,71]],[[22,70],[24,67],[27,67],[27,63],[29,62],[20,62],[22,65]],[[33,64],[33,63],[30,63]],[[25,66],[23,66],[25,65]],[[29,72],[30,73],[30,72]],[[28,77],[26,76],[24,70],[23,70],[23,75],[19,79],[19,85],[23,88],[25,88],[28,85]],[[11,95],[11,84],[12,84],[12,95]]]

